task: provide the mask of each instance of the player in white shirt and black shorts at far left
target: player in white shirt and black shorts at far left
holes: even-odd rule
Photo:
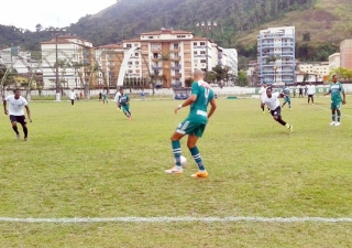
[[[13,93],[14,93],[14,95],[10,95],[10,96],[6,97],[3,100],[4,115],[10,114],[10,121],[12,125],[12,129],[15,132],[16,139],[18,140],[21,139],[21,136],[20,136],[20,132],[18,129],[18,122],[20,122],[22,125],[22,129],[23,129],[23,133],[24,133],[24,141],[30,141],[29,140],[29,129],[26,128],[26,120],[25,120],[25,116],[23,112],[23,107],[24,107],[26,110],[26,115],[28,115],[30,121],[32,122],[29,103],[26,101],[25,98],[23,98],[21,96],[20,89],[14,89]],[[8,101],[9,101],[9,106],[10,106],[9,111],[7,109]]]

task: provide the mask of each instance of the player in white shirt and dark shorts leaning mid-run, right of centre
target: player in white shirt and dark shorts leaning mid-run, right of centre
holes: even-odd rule
[[[275,121],[277,121],[282,126],[285,126],[288,131],[294,131],[294,127],[284,121],[282,118],[282,108],[279,107],[278,98],[285,96],[285,94],[273,93],[272,90],[272,88],[266,89],[266,97],[264,98],[264,103],[271,109],[271,114]]]

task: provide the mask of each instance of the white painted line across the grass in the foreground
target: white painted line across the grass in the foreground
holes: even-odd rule
[[[0,217],[0,223],[352,223],[352,218],[326,217],[114,217],[114,218],[11,218]]]

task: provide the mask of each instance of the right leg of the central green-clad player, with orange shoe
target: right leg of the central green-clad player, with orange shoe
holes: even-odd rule
[[[197,173],[191,175],[193,177],[208,177],[208,172],[206,171],[205,164],[202,163],[199,150],[197,148],[197,141],[202,136],[205,128],[205,125],[199,126],[199,128],[194,131],[194,134],[188,136],[187,140],[187,147],[199,169]]]

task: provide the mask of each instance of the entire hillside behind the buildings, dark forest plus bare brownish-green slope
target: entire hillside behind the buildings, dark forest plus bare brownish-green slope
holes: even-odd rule
[[[118,0],[94,15],[86,15],[68,32],[96,46],[136,37],[141,32],[173,28],[204,35],[196,23],[217,21],[209,37],[235,47],[246,57],[256,56],[256,35],[268,26],[296,26],[297,57],[324,61],[339,43],[352,37],[352,0]],[[38,50],[46,32],[29,32],[0,25],[0,48],[22,45]]]

